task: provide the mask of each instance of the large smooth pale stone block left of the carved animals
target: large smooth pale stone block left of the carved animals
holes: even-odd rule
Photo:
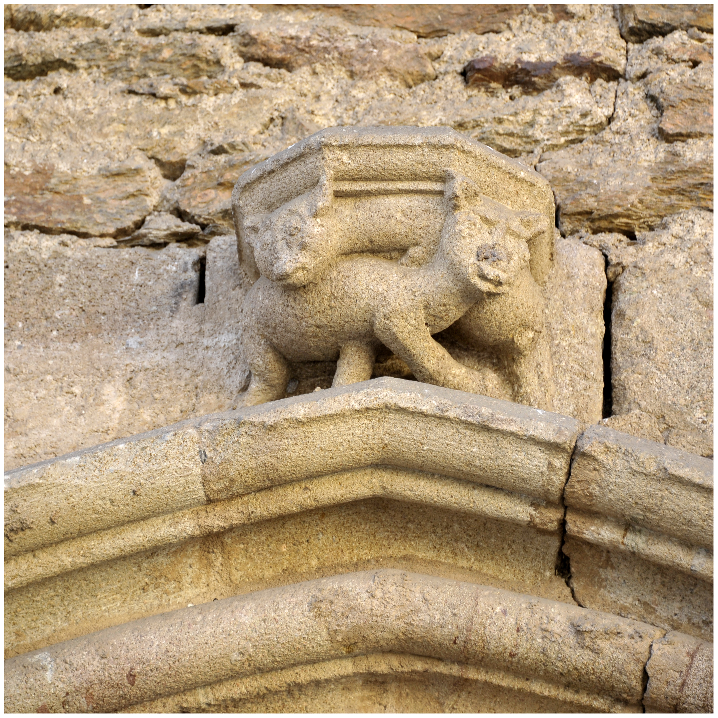
[[[236,239],[206,249],[204,304],[201,248],[115,244],[6,238],[7,468],[230,408],[242,387]]]

